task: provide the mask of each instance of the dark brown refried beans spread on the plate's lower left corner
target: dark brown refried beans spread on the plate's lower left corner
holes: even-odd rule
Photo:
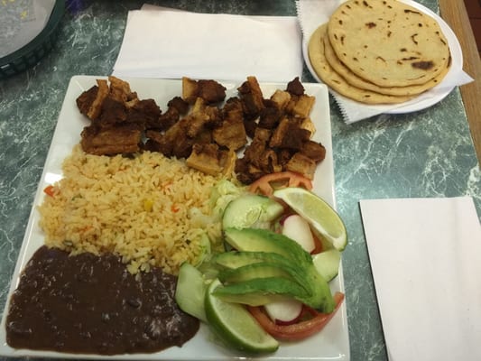
[[[118,355],[180,347],[199,320],[174,300],[177,277],[128,273],[116,255],[71,255],[43,245],[10,301],[10,347]]]

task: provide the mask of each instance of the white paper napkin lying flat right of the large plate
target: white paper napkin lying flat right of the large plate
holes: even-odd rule
[[[473,199],[372,199],[360,207],[389,359],[481,360]]]

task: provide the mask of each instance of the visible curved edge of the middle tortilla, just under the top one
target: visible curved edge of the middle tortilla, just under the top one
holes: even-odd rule
[[[372,90],[376,93],[386,94],[390,96],[415,96],[422,92],[429,90],[437,86],[442,79],[448,74],[449,67],[444,68],[439,75],[430,79],[428,82],[420,85],[412,85],[406,87],[379,87],[370,81],[358,77],[350,69],[347,68],[344,63],[338,59],[336,52],[332,49],[332,45],[328,36],[324,36],[324,55],[328,60],[329,65],[334,71],[336,71],[342,78],[346,79],[347,83],[356,87],[366,90]]]

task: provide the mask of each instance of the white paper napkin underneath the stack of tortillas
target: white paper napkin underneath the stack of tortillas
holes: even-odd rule
[[[308,58],[307,55],[307,43],[309,42],[310,35],[314,32],[320,24],[327,23],[329,16],[334,13],[339,5],[344,3],[346,0],[297,0],[297,14],[299,22],[301,24],[302,31],[302,46],[304,50],[304,58]],[[411,0],[401,0],[403,3],[407,3],[413,6],[421,6]],[[429,9],[422,7],[422,10],[430,14],[431,16],[436,16]],[[350,100],[347,97],[342,97],[335,91],[330,90],[331,94],[336,99],[341,113],[344,116],[344,120],[347,124],[357,122],[362,119],[369,118],[371,116],[377,116],[383,113],[409,113],[422,109],[426,106],[431,106],[437,101],[442,99],[449,94],[450,90],[456,86],[461,86],[467,84],[474,79],[468,76],[462,69],[463,67],[463,56],[462,51],[459,46],[456,36],[449,29],[449,26],[445,23],[439,23],[443,32],[448,37],[449,47],[453,56],[453,61],[451,64],[451,69],[449,73],[443,79],[439,86],[430,89],[429,91],[421,94],[421,96],[412,99],[409,102],[405,102],[398,105],[381,105],[381,106],[370,106],[358,103],[356,101]],[[451,36],[452,35],[452,36]],[[306,59],[306,62],[309,62]],[[309,66],[309,64],[308,64]],[[311,71],[312,72],[312,71]],[[314,78],[320,79],[312,74]]]

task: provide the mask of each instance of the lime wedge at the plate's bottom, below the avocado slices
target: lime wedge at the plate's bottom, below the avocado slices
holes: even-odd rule
[[[212,292],[222,287],[215,280],[206,292],[206,316],[209,326],[229,346],[252,353],[267,353],[277,350],[279,343],[257,323],[254,317],[238,303],[221,301]]]

